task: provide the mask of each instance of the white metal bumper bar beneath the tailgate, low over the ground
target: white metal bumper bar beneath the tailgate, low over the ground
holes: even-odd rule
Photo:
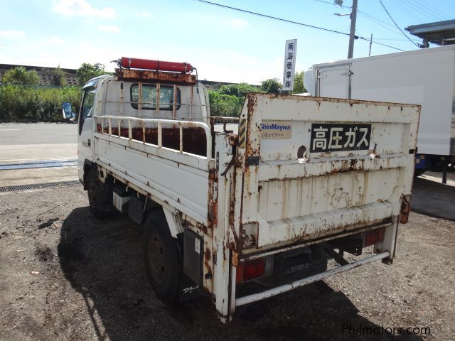
[[[292,289],[299,288],[299,286],[305,286],[309,283],[314,283],[317,281],[321,281],[321,279],[326,278],[328,276],[332,276],[335,274],[340,274],[341,272],[357,268],[363,264],[368,264],[373,261],[378,261],[379,259],[384,259],[390,256],[389,251],[382,252],[381,254],[375,254],[375,256],[370,256],[364,259],[360,259],[359,261],[355,261],[350,264],[346,264],[343,266],[337,266],[334,269],[328,270],[326,272],[322,272],[321,274],[316,274],[313,276],[309,276],[306,278],[301,278],[298,281],[294,281],[292,283],[284,284],[283,286],[277,286],[276,288],[272,288],[266,291],[262,291],[262,293],[255,293],[248,296],[243,296],[240,298],[235,299],[235,306],[238,307],[240,305],[245,305],[248,303],[252,303],[255,301],[260,301],[264,298],[269,298],[275,295],[279,295],[280,293],[285,293],[287,291],[291,291]]]

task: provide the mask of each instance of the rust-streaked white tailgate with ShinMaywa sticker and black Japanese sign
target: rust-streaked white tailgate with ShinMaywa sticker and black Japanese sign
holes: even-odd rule
[[[408,104],[249,94],[235,182],[244,252],[400,215],[411,193],[419,112]]]

